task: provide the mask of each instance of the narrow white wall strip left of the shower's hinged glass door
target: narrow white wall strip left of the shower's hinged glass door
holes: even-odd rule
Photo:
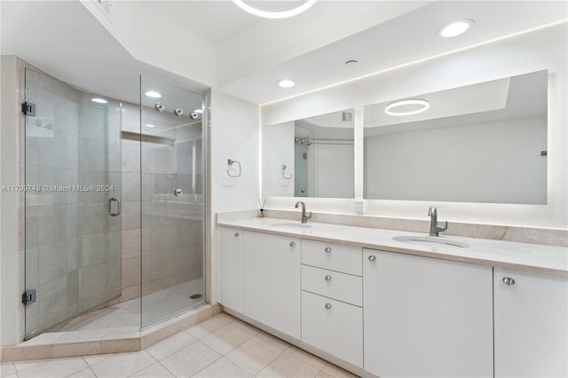
[[[18,143],[20,141],[20,98],[18,89],[18,61],[13,56],[2,56],[2,83],[0,114],[0,185],[19,184]],[[0,194],[0,345],[20,342],[20,193],[2,191]]]

